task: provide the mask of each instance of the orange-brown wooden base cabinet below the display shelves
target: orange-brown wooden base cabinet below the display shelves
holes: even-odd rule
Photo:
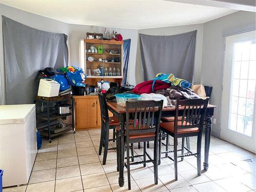
[[[76,129],[97,128],[100,126],[98,96],[74,96]]]

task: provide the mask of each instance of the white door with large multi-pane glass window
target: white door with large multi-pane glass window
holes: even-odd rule
[[[255,31],[226,37],[221,138],[255,153]]]

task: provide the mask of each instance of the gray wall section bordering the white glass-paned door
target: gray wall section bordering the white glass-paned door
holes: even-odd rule
[[[212,86],[210,103],[217,105],[212,134],[220,136],[221,86],[225,35],[255,29],[255,13],[239,11],[204,24],[201,83]]]

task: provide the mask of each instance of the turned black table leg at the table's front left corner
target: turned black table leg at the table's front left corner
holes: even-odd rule
[[[120,129],[119,129],[119,141],[118,141],[118,150],[119,150],[119,186],[124,185],[123,177],[123,167],[124,167],[124,120],[120,120]]]

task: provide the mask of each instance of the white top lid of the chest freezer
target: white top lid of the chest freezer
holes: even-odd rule
[[[0,105],[0,124],[24,123],[35,104]]]

